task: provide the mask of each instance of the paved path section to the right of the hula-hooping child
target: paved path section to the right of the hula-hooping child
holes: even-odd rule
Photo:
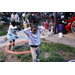
[[[45,37],[45,39],[55,43],[62,43],[71,47],[75,47],[75,34],[73,33],[65,34],[63,38],[59,38],[57,34],[53,35],[51,38]]]

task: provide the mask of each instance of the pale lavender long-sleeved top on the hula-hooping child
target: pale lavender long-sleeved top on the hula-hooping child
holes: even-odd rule
[[[40,45],[40,34],[43,32],[44,29],[44,27],[38,26],[36,34],[32,33],[30,27],[23,30],[23,32],[25,32],[25,34],[29,37],[29,45]]]

